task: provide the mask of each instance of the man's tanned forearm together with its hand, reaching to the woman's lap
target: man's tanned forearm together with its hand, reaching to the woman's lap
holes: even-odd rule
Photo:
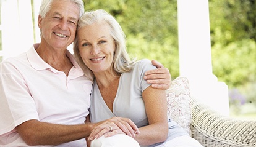
[[[117,121],[113,118],[98,123],[78,125],[51,124],[32,119],[18,125],[15,127],[15,130],[17,130],[25,143],[30,146],[59,145],[69,141],[79,140],[89,137],[93,129],[100,129],[101,133],[97,137],[105,135],[106,133],[108,133],[108,136],[112,136],[121,131],[130,136],[135,135],[134,132],[138,130],[138,128],[133,122],[129,122],[128,124],[127,122],[122,122],[121,120]],[[112,131],[109,134],[109,126],[116,131]],[[117,132],[117,130],[119,131]]]

